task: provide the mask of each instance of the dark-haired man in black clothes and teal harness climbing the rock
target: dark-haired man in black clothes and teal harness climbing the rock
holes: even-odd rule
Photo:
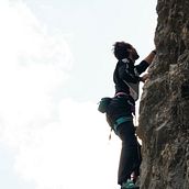
[[[153,62],[156,51],[135,66],[138,59],[136,49],[129,43],[116,42],[113,45],[113,54],[118,59],[113,81],[115,94],[112,98],[107,114],[108,123],[113,127],[115,134],[122,141],[120,165],[118,171],[118,184],[121,189],[138,188],[135,185],[140,175],[141,146],[135,136],[133,114],[135,114],[135,101],[138,99],[138,84],[145,82],[148,75],[140,77]],[[131,179],[131,176],[134,178]]]

